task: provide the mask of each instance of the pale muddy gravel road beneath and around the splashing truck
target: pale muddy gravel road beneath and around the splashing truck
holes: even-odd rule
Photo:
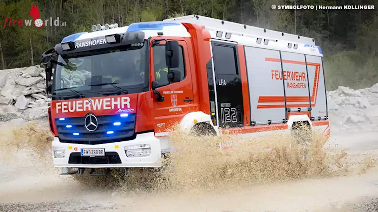
[[[378,156],[378,132],[342,132],[332,135],[328,152],[346,149],[354,161]],[[0,211],[3,212],[373,212],[378,211],[378,168],[327,178],[235,185],[210,192],[114,192],[87,189],[59,176],[50,164],[25,163],[28,151],[0,166]],[[24,158],[24,159],[22,159]],[[19,161],[19,162],[17,162]],[[21,161],[21,162],[20,162]],[[17,165],[15,163],[17,162]]]

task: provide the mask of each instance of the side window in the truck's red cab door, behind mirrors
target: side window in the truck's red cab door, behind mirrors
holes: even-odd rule
[[[158,82],[159,86],[165,86],[169,84],[168,81],[168,71],[165,60],[165,45],[156,45],[153,48],[153,62],[155,69],[155,80]],[[180,63],[178,68],[175,68],[181,72],[181,80],[185,78],[185,65],[184,65],[184,52],[183,47],[180,46]]]

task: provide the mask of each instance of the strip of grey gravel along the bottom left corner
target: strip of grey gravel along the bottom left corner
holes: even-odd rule
[[[0,203],[0,212],[96,212],[115,209],[117,207],[113,204],[104,206],[78,200],[41,203]]]

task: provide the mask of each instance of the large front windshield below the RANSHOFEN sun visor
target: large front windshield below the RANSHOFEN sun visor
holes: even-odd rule
[[[101,52],[59,55],[54,74],[55,90],[87,91],[101,87],[136,86],[144,83],[146,45],[122,46]],[[91,86],[102,84],[101,86]],[[94,88],[96,87],[96,88]]]

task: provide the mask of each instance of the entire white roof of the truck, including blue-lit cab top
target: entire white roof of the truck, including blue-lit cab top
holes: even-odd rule
[[[79,32],[63,38],[61,43],[68,41],[75,42],[133,31],[144,32],[146,39],[150,36],[158,36],[158,32],[163,32],[164,36],[191,37],[187,29],[181,23],[193,23],[198,26],[204,26],[205,29],[210,32],[213,40],[237,42],[238,44],[245,46],[322,56],[321,48],[315,45],[313,38],[200,15],[186,15],[183,17],[166,19],[160,22],[132,23],[130,26],[95,32]],[[220,33],[217,32],[222,32],[222,35],[219,36]],[[257,40],[259,40],[258,38],[260,38],[260,43],[257,42]]]

